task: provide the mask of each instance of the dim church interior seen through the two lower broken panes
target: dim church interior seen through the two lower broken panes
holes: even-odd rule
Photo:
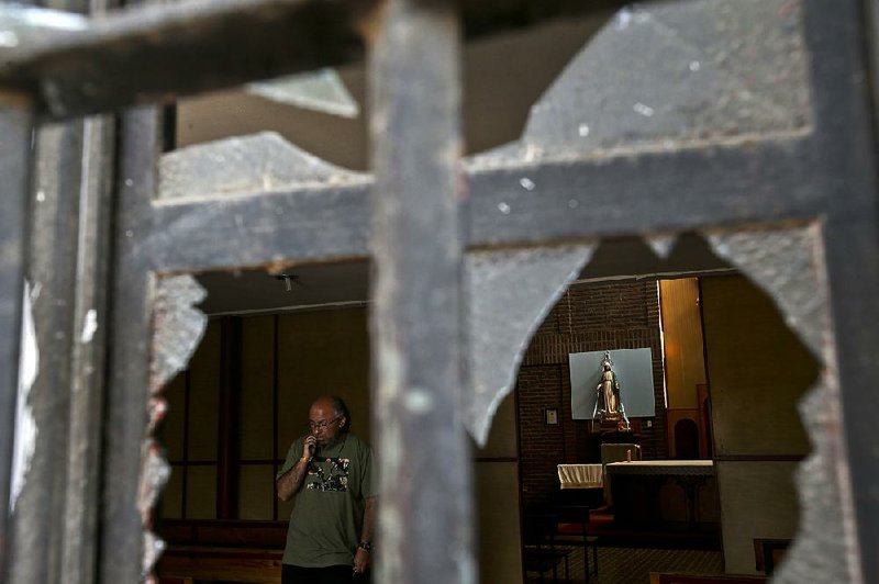
[[[604,255],[597,254],[594,270]],[[364,266],[347,268],[366,276]],[[665,550],[654,565],[647,562],[649,571],[676,565],[683,553],[708,558],[719,573],[768,575],[797,531],[793,476],[809,453],[797,404],[817,374],[812,358],[770,299],[735,270],[607,279],[590,278],[587,269],[581,276],[536,328],[515,390],[469,461],[481,581],[619,581],[614,570],[645,549]],[[210,290],[229,278],[235,277],[202,280]],[[265,272],[237,278],[258,278],[283,294],[320,293],[326,280],[305,268],[287,292]],[[210,296],[204,306],[224,307]],[[165,390],[162,441],[173,471],[158,514],[169,546],[159,563],[163,581],[199,581],[200,574],[210,581],[218,573],[235,581],[229,579],[236,570],[241,582],[277,581],[272,566],[292,503],[277,499],[274,476],[288,446],[304,434],[308,405],[338,393],[354,431],[370,437],[368,310],[368,302],[347,300],[210,317],[188,369]],[[571,356],[633,349],[648,349],[653,385],[642,390],[655,401],[654,415],[630,417],[624,430],[605,427],[591,412],[574,417]],[[616,373],[625,405],[634,388],[624,371]],[[708,470],[617,476],[614,467],[633,459]],[[589,468],[598,469],[591,482],[563,483],[563,470],[576,475]],[[575,536],[586,529],[583,550],[575,537],[574,548],[569,540],[561,548],[570,554],[555,565],[555,576],[532,571],[539,563],[532,563],[530,521],[565,509],[585,513],[557,518]]]

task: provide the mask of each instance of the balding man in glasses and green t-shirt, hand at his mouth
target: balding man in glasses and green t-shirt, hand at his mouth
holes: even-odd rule
[[[281,501],[297,497],[281,581],[351,583],[369,566],[372,551],[371,450],[351,434],[351,414],[338,397],[319,397],[309,409],[309,427],[276,478]]]

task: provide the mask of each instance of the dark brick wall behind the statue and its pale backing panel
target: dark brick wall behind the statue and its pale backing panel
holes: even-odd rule
[[[519,429],[523,502],[546,502],[558,491],[556,464],[599,462],[600,439],[587,420],[571,419],[568,355],[653,349],[656,417],[639,435],[644,458],[667,457],[659,296],[655,280],[578,284],[558,301],[538,328],[519,372]],[[558,409],[558,424],[545,423],[545,409]]]

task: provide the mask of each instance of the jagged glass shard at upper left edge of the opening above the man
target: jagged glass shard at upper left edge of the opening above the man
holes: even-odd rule
[[[154,394],[189,362],[196,351],[208,317],[196,305],[207,292],[189,274],[160,278],[156,291],[155,334],[153,340]]]

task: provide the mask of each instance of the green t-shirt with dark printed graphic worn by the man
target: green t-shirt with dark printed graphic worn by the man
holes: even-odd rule
[[[304,439],[292,443],[276,480],[299,461]],[[375,496],[371,464],[369,445],[351,433],[318,450],[296,494],[283,563],[304,568],[354,563],[366,498]]]

